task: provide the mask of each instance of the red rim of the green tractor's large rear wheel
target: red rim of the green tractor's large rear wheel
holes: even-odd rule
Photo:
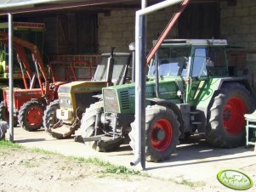
[[[245,126],[246,106],[241,98],[231,98],[223,111],[225,129],[233,135],[241,133]]]

